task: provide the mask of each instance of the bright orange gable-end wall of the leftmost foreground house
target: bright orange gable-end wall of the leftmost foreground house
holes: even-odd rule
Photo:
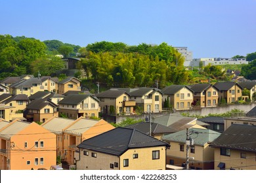
[[[35,148],[35,141],[39,142],[38,148]],[[40,147],[41,141],[43,147]],[[20,133],[13,135],[11,142],[15,144],[10,154],[11,170],[49,169],[51,165],[56,164],[56,135],[38,124],[32,123]],[[25,142],[28,143],[27,148],[24,146]],[[35,165],[35,158],[39,158],[39,165]],[[40,158],[43,158],[43,164]],[[27,161],[30,161],[30,165],[27,165]]]

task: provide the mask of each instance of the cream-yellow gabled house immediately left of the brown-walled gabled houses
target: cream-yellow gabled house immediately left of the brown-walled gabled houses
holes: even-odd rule
[[[173,110],[188,110],[192,107],[193,91],[184,85],[166,86],[161,90],[163,93],[163,101],[169,101]]]

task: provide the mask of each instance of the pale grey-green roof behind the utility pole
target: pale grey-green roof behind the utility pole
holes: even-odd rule
[[[198,146],[204,146],[207,142],[213,142],[221,133],[213,131],[211,129],[199,129],[190,128],[188,133],[192,132],[190,137],[194,139],[194,144]],[[186,143],[186,129],[182,131],[177,131],[176,133],[171,133],[168,135],[163,135],[163,141],[167,142],[181,142]]]

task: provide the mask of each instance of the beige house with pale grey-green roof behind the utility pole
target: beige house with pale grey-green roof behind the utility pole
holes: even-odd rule
[[[219,135],[221,133],[211,129],[198,129],[194,127],[164,135],[162,140],[171,145],[171,148],[167,150],[167,164],[184,167],[188,145],[188,156],[190,158],[193,157],[192,162],[190,161],[189,163],[189,169],[214,169],[214,149],[209,144]],[[186,143],[188,138],[192,139],[192,144]]]

